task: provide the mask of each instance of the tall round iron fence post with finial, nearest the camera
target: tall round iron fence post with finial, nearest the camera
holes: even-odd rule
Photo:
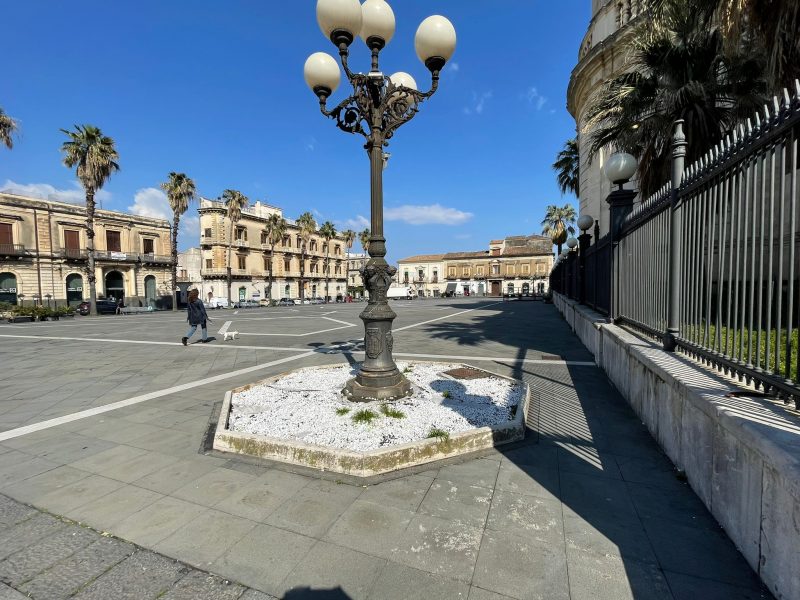
[[[683,168],[686,159],[686,135],[683,132],[683,119],[675,121],[675,134],[672,137],[672,190],[670,196],[669,219],[669,291],[667,294],[667,331],[664,334],[664,350],[674,352],[677,338],[681,333],[681,255],[683,247],[683,217],[681,215],[678,188],[683,181]]]

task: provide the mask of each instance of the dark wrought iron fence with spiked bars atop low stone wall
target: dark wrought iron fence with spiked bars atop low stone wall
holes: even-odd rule
[[[557,262],[551,287],[798,406],[795,87],[685,169],[679,122],[672,182],[612,227],[607,261],[601,242],[589,248],[586,236],[580,253]]]

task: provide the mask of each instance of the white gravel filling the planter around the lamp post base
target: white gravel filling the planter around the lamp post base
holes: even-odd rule
[[[425,439],[433,428],[454,434],[507,423],[512,408],[523,401],[524,386],[496,376],[455,380],[442,374],[462,366],[398,363],[414,395],[388,406],[402,411],[403,418],[382,414],[381,405],[387,403],[344,398],[340,390],[356,374],[349,365],[295,371],[234,394],[229,426],[240,433],[364,452]],[[338,415],[340,408],[350,411]],[[354,423],[353,415],[364,409],[378,417],[369,424]]]

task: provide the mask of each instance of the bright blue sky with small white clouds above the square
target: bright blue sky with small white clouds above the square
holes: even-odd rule
[[[550,165],[575,124],[566,88],[590,17],[589,0],[391,2],[395,38],[385,73],[427,88],[414,33],[447,16],[458,47],[439,92],[395,134],[384,172],[388,258],[481,250],[490,239],[539,233],[561,198]],[[369,165],[360,136],[339,131],[303,81],[312,52],[334,52],[314,0],[76,0],[13,2],[4,10],[0,107],[21,131],[0,149],[0,189],[80,199],[61,164],[60,128],[100,127],[122,170],[104,208],[157,215],[156,191],[183,171],[216,198],[241,190],[295,218],[363,229]],[[351,66],[369,68],[354,45]],[[334,95],[345,97],[345,85]],[[196,214],[196,213],[195,213]],[[190,215],[187,215],[190,216]],[[186,219],[182,248],[196,245]]]

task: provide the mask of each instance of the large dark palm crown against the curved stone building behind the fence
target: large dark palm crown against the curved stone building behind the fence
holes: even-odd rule
[[[763,103],[763,60],[743,41],[724,51],[710,0],[656,0],[658,11],[633,31],[628,70],[590,99],[590,156],[613,146],[639,159],[639,188],[669,179],[673,124],[686,123],[687,164]]]

